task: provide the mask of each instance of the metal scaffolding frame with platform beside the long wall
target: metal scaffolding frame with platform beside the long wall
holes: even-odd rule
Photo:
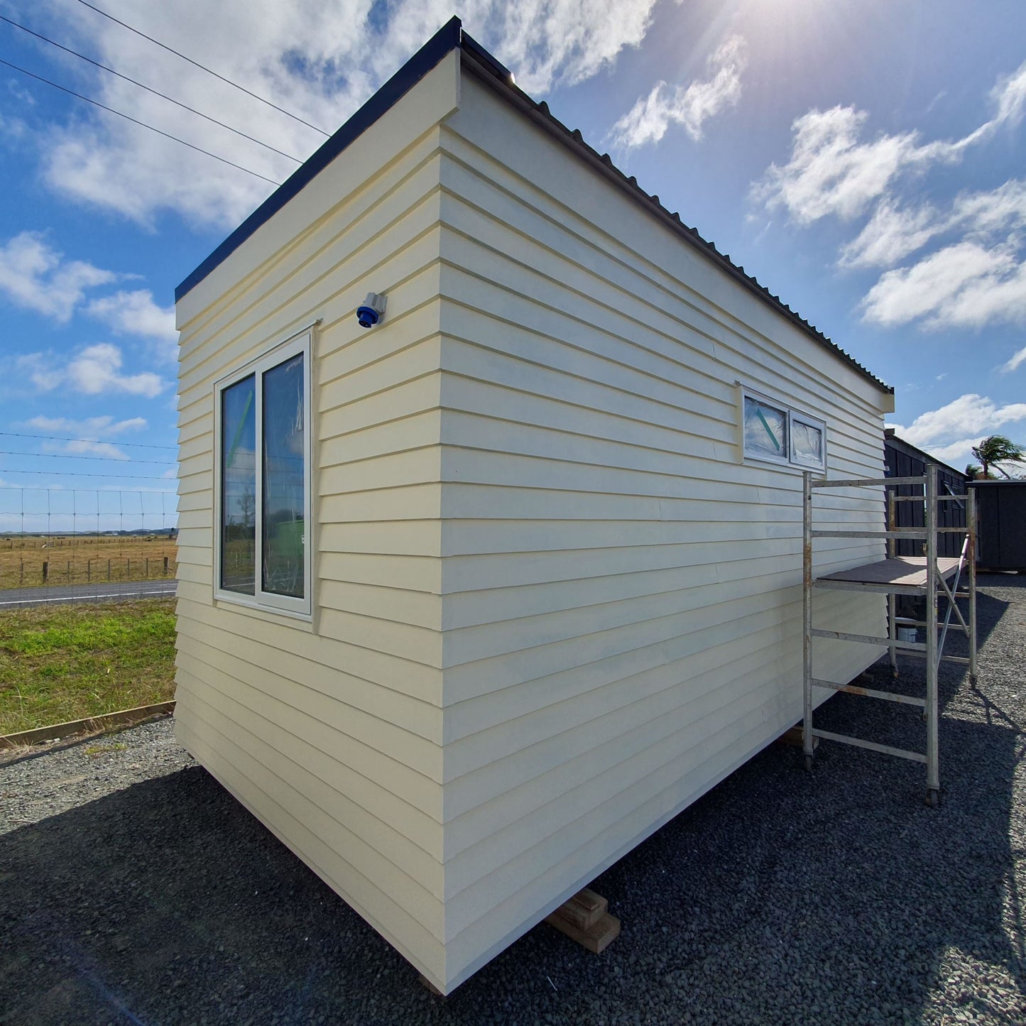
[[[887,491],[887,514],[885,529],[880,530],[816,530],[813,527],[813,495],[820,488],[878,488],[898,485],[921,486],[922,492],[898,496]],[[965,501],[964,527],[939,527],[937,524],[938,503]],[[923,504],[923,526],[897,528],[895,510],[898,502],[919,502]],[[802,690],[803,715],[801,743],[805,758],[805,768],[812,770],[815,759],[817,739],[838,741],[871,751],[897,755],[900,758],[922,762],[926,766],[926,804],[936,807],[940,803],[940,751],[938,741],[938,671],[942,662],[951,662],[969,667],[970,680],[977,679],[977,623],[976,623],[976,544],[977,544],[976,496],[969,489],[966,496],[939,496],[937,494],[937,467],[928,465],[926,472],[918,477],[856,478],[851,480],[827,480],[814,478],[805,471],[802,480]],[[960,532],[965,536],[961,554],[957,559],[938,557],[938,538],[946,532]],[[815,577],[813,573],[813,542],[818,538],[864,538],[882,539],[886,544],[886,558],[865,563],[847,570]],[[900,538],[921,540],[922,556],[895,556],[895,541]],[[962,571],[966,571],[965,590],[959,591]],[[949,586],[948,580],[953,583]],[[843,631],[824,630],[813,627],[813,591],[827,588],[862,593],[886,594],[887,636],[875,637],[852,634]],[[926,619],[910,620],[897,616],[898,595],[922,595],[926,599]],[[938,600],[944,598],[947,607],[943,624],[938,614]],[[956,599],[969,600],[969,620],[962,616]],[[969,658],[948,656],[944,653],[952,615],[957,620],[955,629],[961,630],[969,639]],[[898,636],[899,627],[925,628],[925,641],[909,641]],[[940,637],[938,637],[940,631]],[[892,692],[860,687],[852,683],[822,680],[813,675],[813,638],[822,637],[840,641],[858,641],[866,644],[885,645],[891,663],[892,675],[898,677],[898,653],[924,659],[926,663],[926,694],[923,698],[898,695]],[[926,724],[926,751],[909,751],[891,745],[847,737],[829,731],[817,729],[813,725],[813,688],[830,688],[850,695],[882,699],[901,705],[918,706]]]

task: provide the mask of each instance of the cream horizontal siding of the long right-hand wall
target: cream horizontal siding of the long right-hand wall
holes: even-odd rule
[[[742,459],[739,386],[825,420],[830,476],[881,476],[887,400],[477,80],[441,145],[456,982],[800,717],[801,474]],[[816,502],[882,526],[881,496]],[[825,593],[817,625],[882,611]],[[816,655],[847,680],[879,653]]]

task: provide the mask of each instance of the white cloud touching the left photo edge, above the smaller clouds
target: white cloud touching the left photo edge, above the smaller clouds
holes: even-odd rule
[[[40,232],[22,232],[0,246],[0,291],[27,310],[65,324],[88,288],[118,275],[84,261],[65,261]]]

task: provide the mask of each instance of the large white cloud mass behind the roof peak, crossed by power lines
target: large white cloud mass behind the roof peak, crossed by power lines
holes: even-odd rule
[[[647,32],[656,0],[468,0],[464,26],[544,93],[613,64]],[[94,54],[157,88],[174,85],[183,103],[215,115],[285,153],[306,158],[323,136],[205,75],[95,12],[57,0],[37,5]],[[452,13],[449,0],[122,0],[118,16],[327,131],[339,127]],[[200,24],[200,19],[202,24]],[[45,31],[45,26],[42,26]],[[238,45],[240,39],[245,45]],[[73,42],[72,45],[75,43]],[[275,181],[287,158],[174,108],[126,82],[83,71],[102,103]],[[204,227],[232,227],[271,186],[109,115],[84,112],[54,126],[44,177],[74,200],[153,227],[172,210]]]

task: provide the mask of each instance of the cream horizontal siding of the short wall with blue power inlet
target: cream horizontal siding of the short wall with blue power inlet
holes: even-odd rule
[[[179,304],[177,734],[445,981],[438,120],[457,55]],[[373,331],[354,311],[388,294]],[[311,622],[213,598],[214,383],[317,321]]]

